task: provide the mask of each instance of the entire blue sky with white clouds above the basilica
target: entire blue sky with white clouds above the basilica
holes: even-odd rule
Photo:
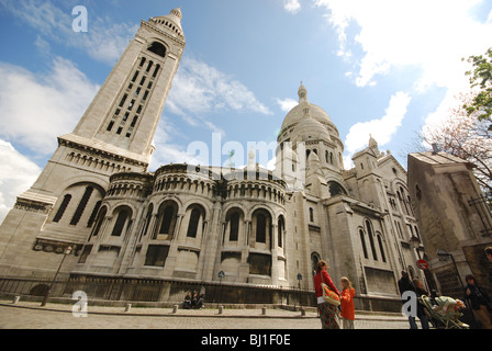
[[[76,5],[88,11],[87,33],[72,31]],[[74,129],[141,20],[177,7],[187,47],[150,170],[210,163],[187,148],[211,145],[212,133],[245,150],[275,141],[301,80],[338,127],[346,168],[369,134],[406,167],[416,134],[468,91],[461,58],[492,46],[485,0],[0,0],[0,220],[56,137]]]

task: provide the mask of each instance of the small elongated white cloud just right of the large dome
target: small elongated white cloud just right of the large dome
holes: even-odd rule
[[[402,125],[402,121],[406,114],[411,98],[402,91],[391,97],[390,104],[385,110],[385,115],[378,120],[369,122],[360,122],[350,127],[345,139],[345,166],[347,160],[358,150],[365,148],[369,141],[369,135],[378,141],[379,146],[388,144],[398,128]]]

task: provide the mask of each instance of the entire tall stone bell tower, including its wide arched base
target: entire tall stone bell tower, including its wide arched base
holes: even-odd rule
[[[0,226],[0,274],[52,275],[87,240],[119,171],[145,172],[186,38],[181,10],[142,21],[75,129]]]

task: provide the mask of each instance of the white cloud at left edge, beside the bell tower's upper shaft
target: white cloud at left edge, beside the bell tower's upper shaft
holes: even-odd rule
[[[99,87],[63,58],[47,73],[0,63],[0,136],[38,156],[56,148],[56,137],[74,129]]]

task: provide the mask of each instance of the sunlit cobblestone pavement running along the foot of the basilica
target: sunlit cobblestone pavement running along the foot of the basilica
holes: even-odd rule
[[[88,306],[87,317],[76,317],[72,305],[0,302],[2,329],[320,329],[315,312],[279,308],[174,312],[172,308]],[[76,314],[78,310],[76,310]],[[409,329],[399,315],[361,315],[356,329]]]

